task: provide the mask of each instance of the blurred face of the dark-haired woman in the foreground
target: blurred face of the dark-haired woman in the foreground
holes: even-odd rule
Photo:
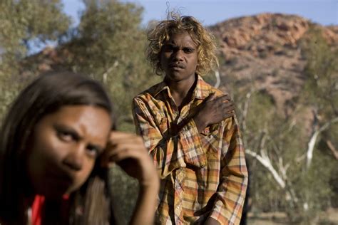
[[[81,187],[110,132],[111,117],[95,106],[63,106],[39,120],[27,159],[34,192],[58,198]]]

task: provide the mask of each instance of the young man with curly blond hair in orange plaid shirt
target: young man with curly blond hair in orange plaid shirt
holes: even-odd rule
[[[171,14],[148,40],[165,78],[134,98],[133,116],[161,178],[156,224],[239,224],[247,167],[234,105],[200,76],[217,66],[215,39]]]

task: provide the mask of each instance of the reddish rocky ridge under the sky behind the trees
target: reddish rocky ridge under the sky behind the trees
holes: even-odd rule
[[[231,75],[241,87],[251,85],[270,95],[279,112],[288,113],[302,89],[304,66],[300,41],[310,26],[322,30],[332,48],[338,46],[338,26],[320,26],[300,16],[258,14],[210,26],[220,44],[221,88]]]

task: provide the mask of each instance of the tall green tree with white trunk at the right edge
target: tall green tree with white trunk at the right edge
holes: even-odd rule
[[[338,124],[338,49],[329,46],[323,33],[322,28],[312,25],[301,43],[302,54],[307,59],[304,68],[307,80],[299,101],[312,109],[313,117],[302,193],[308,207],[304,211],[305,219],[309,221],[314,211],[327,209],[332,196],[337,199],[338,195],[337,184],[330,185],[338,159],[337,136],[334,136]],[[313,185],[314,182],[318,184]]]

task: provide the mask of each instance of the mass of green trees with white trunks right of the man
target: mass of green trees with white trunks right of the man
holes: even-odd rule
[[[247,154],[252,211],[282,210],[292,222],[313,224],[319,212],[337,199],[337,176],[332,175],[337,172],[337,161],[328,150],[327,140],[337,147],[337,123],[329,122],[337,121],[338,116],[338,52],[316,26],[309,28],[299,44],[307,60],[307,80],[295,98],[298,106],[292,115],[282,117],[270,95],[254,85],[243,90],[234,81],[230,89],[245,147],[247,152],[254,152]],[[227,80],[236,79],[230,75]],[[297,117],[309,110],[313,117],[307,117],[312,120]],[[310,137],[325,124],[329,125],[314,139],[313,157],[308,157]]]

